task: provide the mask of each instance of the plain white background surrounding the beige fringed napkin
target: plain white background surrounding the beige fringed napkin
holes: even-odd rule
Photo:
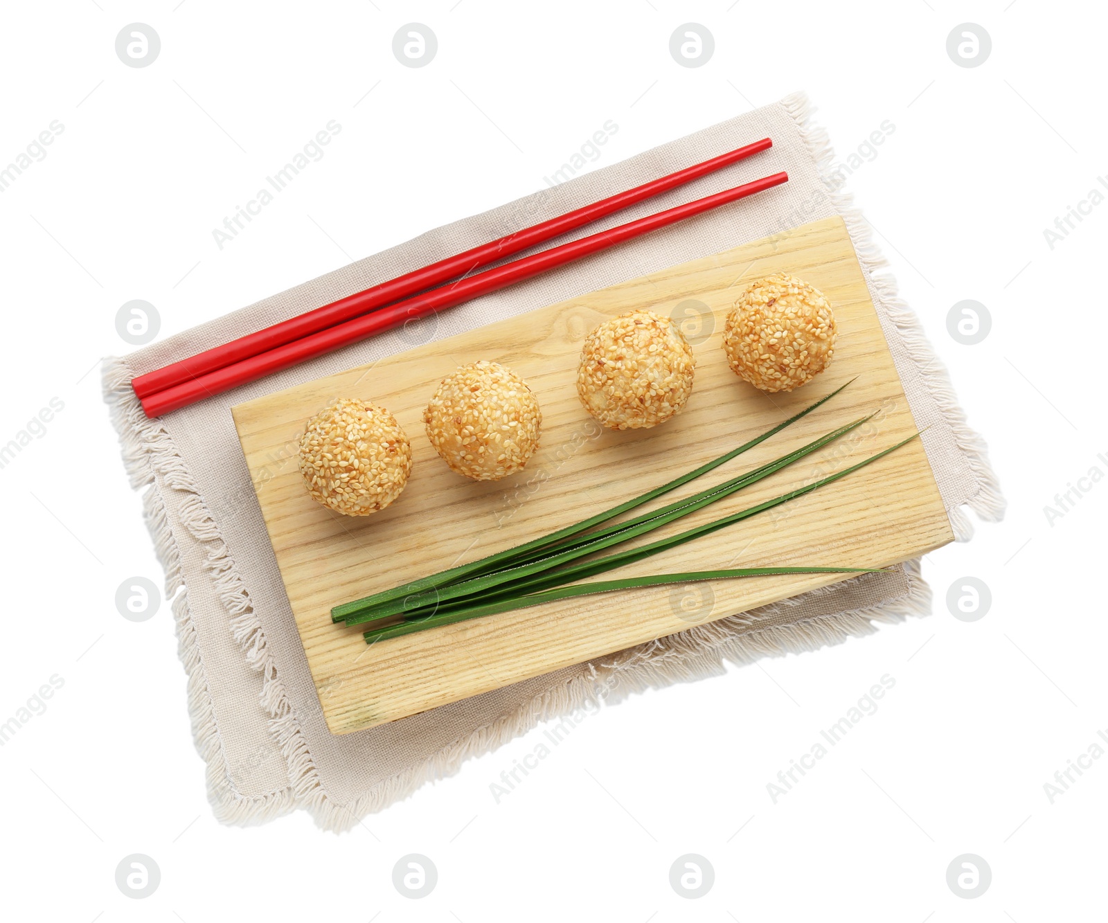
[[[141,69],[114,50],[136,21],[162,42]],[[413,21],[439,41],[421,69],[391,51]],[[715,37],[700,68],[668,51],[688,21]],[[972,69],[945,49],[967,21],[993,42]],[[1108,174],[1102,7],[58,0],[6,3],[3,22],[0,164],[64,125],[0,194],[0,443],[64,403],[0,470],[0,721],[64,681],[0,749],[4,917],[1102,919],[1108,759],[1053,803],[1044,790],[1108,728],[1108,483],[1044,513],[1108,473],[1108,204],[1044,237]],[[132,623],[114,604],[129,577],[161,583],[94,369],[131,349],[120,306],[154,304],[164,337],[534,192],[607,120],[589,167],[798,89],[840,158],[895,124],[848,188],[1009,501],[1003,525],[926,558],[933,616],[603,710],[500,803],[490,783],[541,729],[349,834],[304,813],[216,823],[168,607]],[[213,228],[332,119],[324,160],[218,249]],[[993,319],[976,346],[946,329],[967,298]],[[964,576],[992,591],[976,622],[946,606]],[[767,783],[885,674],[876,714],[773,803]],[[114,879],[136,852],[162,872],[145,900]],[[418,901],[391,883],[411,852],[439,872]],[[716,873],[699,900],[668,880],[690,852]],[[992,868],[975,900],[946,884],[962,853]]]

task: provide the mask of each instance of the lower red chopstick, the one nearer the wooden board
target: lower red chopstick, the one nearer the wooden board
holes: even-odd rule
[[[628,222],[611,230],[602,230],[598,234],[582,237],[579,240],[572,240],[568,244],[562,244],[548,250],[516,259],[504,266],[486,269],[484,273],[461,279],[452,286],[425,291],[396,305],[356,317],[345,324],[284,343],[258,356],[252,356],[233,366],[225,366],[199,378],[166,388],[164,391],[143,398],[143,410],[146,411],[147,417],[160,417],[163,413],[178,410],[271,372],[358,342],[390,327],[401,325],[406,320],[453,307],[481,295],[488,295],[538,273],[665,227],[674,222],[707,212],[709,208],[778,186],[788,180],[787,173],[774,173],[772,176],[766,176],[732,189],[725,189],[721,193],[678,205],[675,208],[667,208],[656,215]]]

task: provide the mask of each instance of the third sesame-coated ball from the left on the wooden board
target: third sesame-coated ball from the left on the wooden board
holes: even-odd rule
[[[585,337],[577,394],[608,429],[656,427],[685,407],[695,366],[693,347],[668,317],[629,311]]]

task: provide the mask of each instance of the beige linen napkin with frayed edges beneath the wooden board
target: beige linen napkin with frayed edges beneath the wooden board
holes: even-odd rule
[[[302,807],[320,825],[345,829],[454,771],[466,757],[586,701],[612,704],[647,686],[719,674],[725,660],[747,663],[813,649],[873,632],[874,622],[926,614],[929,592],[919,562],[910,562],[895,573],[864,575],[400,721],[334,736],[324,722],[228,408],[403,350],[409,346],[404,334],[388,332],[158,420],[145,418],[130,388],[136,375],[766,135],[773,139],[771,151],[599,225],[622,224],[779,170],[789,173],[786,185],[442,312],[423,335],[451,336],[840,214],[916,423],[927,428],[924,447],[955,533],[970,535],[964,506],[984,519],[999,517],[1003,501],[984,447],[965,425],[915,317],[892,283],[874,275],[876,249],[861,217],[838,192],[840,177],[825,134],[808,123],[802,95],[437,228],[105,361],[105,399],[131,482],[145,489],[146,522],[173,597],[196,746],[222,820],[258,821]]]

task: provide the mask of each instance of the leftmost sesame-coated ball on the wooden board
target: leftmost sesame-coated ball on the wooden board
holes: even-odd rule
[[[343,398],[308,421],[299,461],[312,498],[337,513],[367,516],[400,496],[412,447],[383,407]]]

